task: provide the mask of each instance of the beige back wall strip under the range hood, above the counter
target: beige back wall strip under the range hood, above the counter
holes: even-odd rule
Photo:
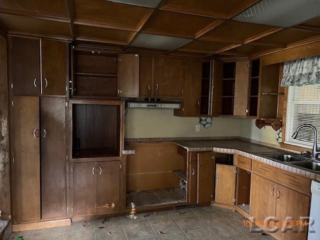
[[[237,136],[238,119],[213,117],[212,126],[204,128],[199,117],[179,117],[173,109],[128,108],[125,114],[125,138],[139,137],[188,137],[188,136]],[[200,125],[200,131],[195,131]]]

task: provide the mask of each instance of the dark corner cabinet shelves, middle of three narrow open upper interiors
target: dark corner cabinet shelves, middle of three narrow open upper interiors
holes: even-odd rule
[[[233,115],[235,87],[235,62],[223,64],[221,114]]]

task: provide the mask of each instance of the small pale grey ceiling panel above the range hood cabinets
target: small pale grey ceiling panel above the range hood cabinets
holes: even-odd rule
[[[153,35],[146,33],[139,33],[131,42],[130,46],[153,48],[153,49],[166,49],[174,50],[184,44],[190,42],[191,39]]]

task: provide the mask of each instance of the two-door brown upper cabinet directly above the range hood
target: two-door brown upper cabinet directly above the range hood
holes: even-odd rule
[[[140,55],[139,96],[181,98],[184,59]]]

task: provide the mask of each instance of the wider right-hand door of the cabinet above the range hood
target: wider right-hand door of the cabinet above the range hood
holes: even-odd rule
[[[182,58],[154,57],[154,96],[181,97],[183,66]]]

